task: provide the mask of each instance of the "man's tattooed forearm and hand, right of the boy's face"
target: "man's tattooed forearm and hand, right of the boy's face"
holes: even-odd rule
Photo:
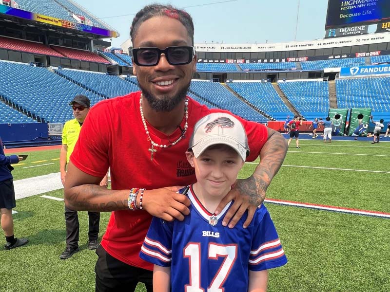
[[[254,211],[264,201],[265,192],[284,161],[287,153],[286,140],[275,130],[270,128],[267,130],[268,140],[260,151],[260,163],[254,173],[245,180],[237,180],[234,188],[219,203],[215,211],[216,214],[220,213],[229,201],[234,200],[222,221],[224,226],[230,222],[229,227],[233,228],[246,210],[248,218],[244,222],[244,228],[249,225]]]

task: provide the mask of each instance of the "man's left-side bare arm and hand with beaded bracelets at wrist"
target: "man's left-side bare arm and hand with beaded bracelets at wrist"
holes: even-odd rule
[[[127,200],[130,190],[110,190],[99,186],[102,178],[89,175],[78,169],[72,161],[68,164],[64,187],[65,205],[72,210],[110,212],[129,210]],[[135,186],[139,187],[139,186]],[[180,187],[145,190],[142,206],[145,211],[158,218],[172,221],[183,220],[188,215],[188,197],[176,193]],[[139,196],[137,197],[139,206]]]

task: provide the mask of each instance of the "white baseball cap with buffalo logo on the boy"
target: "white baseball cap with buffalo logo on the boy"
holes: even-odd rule
[[[197,158],[209,146],[224,144],[232,147],[245,161],[249,155],[248,138],[245,128],[233,115],[213,112],[201,118],[194,127],[189,150]]]

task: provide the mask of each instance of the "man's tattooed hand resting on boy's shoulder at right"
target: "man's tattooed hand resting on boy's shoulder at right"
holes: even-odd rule
[[[227,203],[234,200],[233,205],[223,218],[222,225],[227,226],[229,223],[228,227],[233,228],[248,210],[248,217],[243,224],[243,227],[247,228],[254,217],[257,207],[265,199],[265,191],[262,190],[263,188],[258,185],[253,175],[245,180],[237,180],[233,189],[216,208],[215,213],[219,214]]]

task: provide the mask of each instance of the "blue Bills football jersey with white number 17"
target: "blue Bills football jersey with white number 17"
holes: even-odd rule
[[[215,216],[197,200],[192,186],[187,195],[190,215],[173,222],[154,217],[140,252],[146,261],[171,267],[172,291],[247,291],[248,270],[287,263],[263,204],[246,229],[242,227],[246,218],[230,229],[222,226],[222,219],[233,201]]]

